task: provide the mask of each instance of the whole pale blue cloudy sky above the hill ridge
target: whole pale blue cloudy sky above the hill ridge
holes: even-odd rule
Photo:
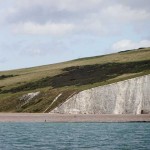
[[[0,0],[0,71],[150,47],[150,0]]]

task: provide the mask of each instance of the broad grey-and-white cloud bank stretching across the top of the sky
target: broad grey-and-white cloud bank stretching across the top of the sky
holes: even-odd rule
[[[15,0],[0,12],[4,14],[0,20],[20,34],[119,35],[128,24],[138,29],[150,20],[150,11],[145,9],[148,6],[137,0],[136,7],[133,1]]]

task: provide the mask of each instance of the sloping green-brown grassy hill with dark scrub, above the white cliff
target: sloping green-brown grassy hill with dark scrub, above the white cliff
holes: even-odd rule
[[[147,74],[150,74],[150,48],[2,71],[0,112],[49,112],[82,90]],[[40,94],[32,100],[22,99],[34,92]]]

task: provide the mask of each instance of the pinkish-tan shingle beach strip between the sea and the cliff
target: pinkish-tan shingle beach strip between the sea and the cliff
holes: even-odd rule
[[[1,122],[51,122],[51,123],[111,123],[150,122],[150,114],[50,114],[50,113],[0,113]]]

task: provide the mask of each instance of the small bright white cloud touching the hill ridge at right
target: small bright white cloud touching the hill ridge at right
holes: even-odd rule
[[[123,51],[130,49],[138,49],[140,47],[150,47],[150,40],[141,40],[134,42],[132,40],[121,40],[112,45],[113,51]]]

